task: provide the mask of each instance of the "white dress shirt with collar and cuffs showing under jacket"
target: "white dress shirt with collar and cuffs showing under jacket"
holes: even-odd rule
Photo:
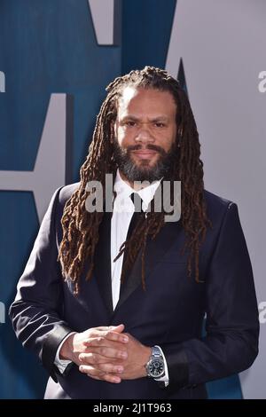
[[[135,207],[133,201],[130,198],[130,195],[132,193],[138,193],[142,199],[142,209],[145,211],[148,208],[150,202],[153,200],[154,193],[159,184],[160,181],[154,181],[152,185],[148,185],[145,188],[137,191],[122,180],[119,169],[117,170],[113,185],[113,190],[116,193],[116,197],[113,201],[113,216],[111,220],[111,277],[113,310],[118,303],[120,295],[121,269],[124,254],[122,254],[115,262],[113,262],[113,259],[118,255],[122,243],[127,238],[129,224],[134,214]],[[66,337],[69,336],[70,334],[66,335]],[[66,366],[70,363],[68,360],[59,359],[59,350],[63,342],[65,342],[65,339],[59,345],[59,349],[57,350],[57,355],[54,362],[61,373],[64,372]],[[168,366],[163,351],[161,349],[160,351],[165,363],[165,375],[159,378],[158,381],[165,382],[165,385],[168,385]]]

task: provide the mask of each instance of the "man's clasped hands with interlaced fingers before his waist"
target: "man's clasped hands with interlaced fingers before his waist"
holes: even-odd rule
[[[80,372],[96,380],[120,383],[146,376],[145,364],[151,348],[130,334],[124,325],[93,327],[70,335],[60,350],[60,358],[72,360]]]

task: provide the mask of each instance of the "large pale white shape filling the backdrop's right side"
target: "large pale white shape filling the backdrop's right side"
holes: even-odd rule
[[[262,299],[266,298],[266,193],[262,192],[266,125],[265,95],[258,90],[258,75],[265,67],[265,15],[263,1],[178,0],[166,64],[176,77],[183,59],[200,132],[205,185],[239,204],[256,291]],[[264,87],[265,79],[260,88]],[[266,326],[261,326],[260,354],[240,374],[246,398],[266,397],[265,351]]]

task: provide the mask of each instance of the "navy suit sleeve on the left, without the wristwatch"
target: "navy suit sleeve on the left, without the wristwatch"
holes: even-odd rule
[[[54,358],[59,343],[73,331],[63,316],[63,279],[56,244],[57,190],[41,224],[34,248],[18,283],[9,311],[12,326],[23,346],[34,350],[54,381]]]

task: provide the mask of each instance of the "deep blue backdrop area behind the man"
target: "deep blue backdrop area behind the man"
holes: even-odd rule
[[[123,0],[119,7],[120,42],[99,46],[87,0],[0,1],[0,70],[6,78],[0,170],[34,169],[51,93],[66,92],[74,96],[68,168],[71,182],[77,181],[106,84],[136,67],[165,67],[176,0]],[[0,218],[0,302],[7,313],[39,227],[33,194],[1,191]],[[1,398],[43,397],[47,374],[20,346],[7,314],[0,324],[0,369]],[[210,397],[241,397],[237,375],[207,388]]]

